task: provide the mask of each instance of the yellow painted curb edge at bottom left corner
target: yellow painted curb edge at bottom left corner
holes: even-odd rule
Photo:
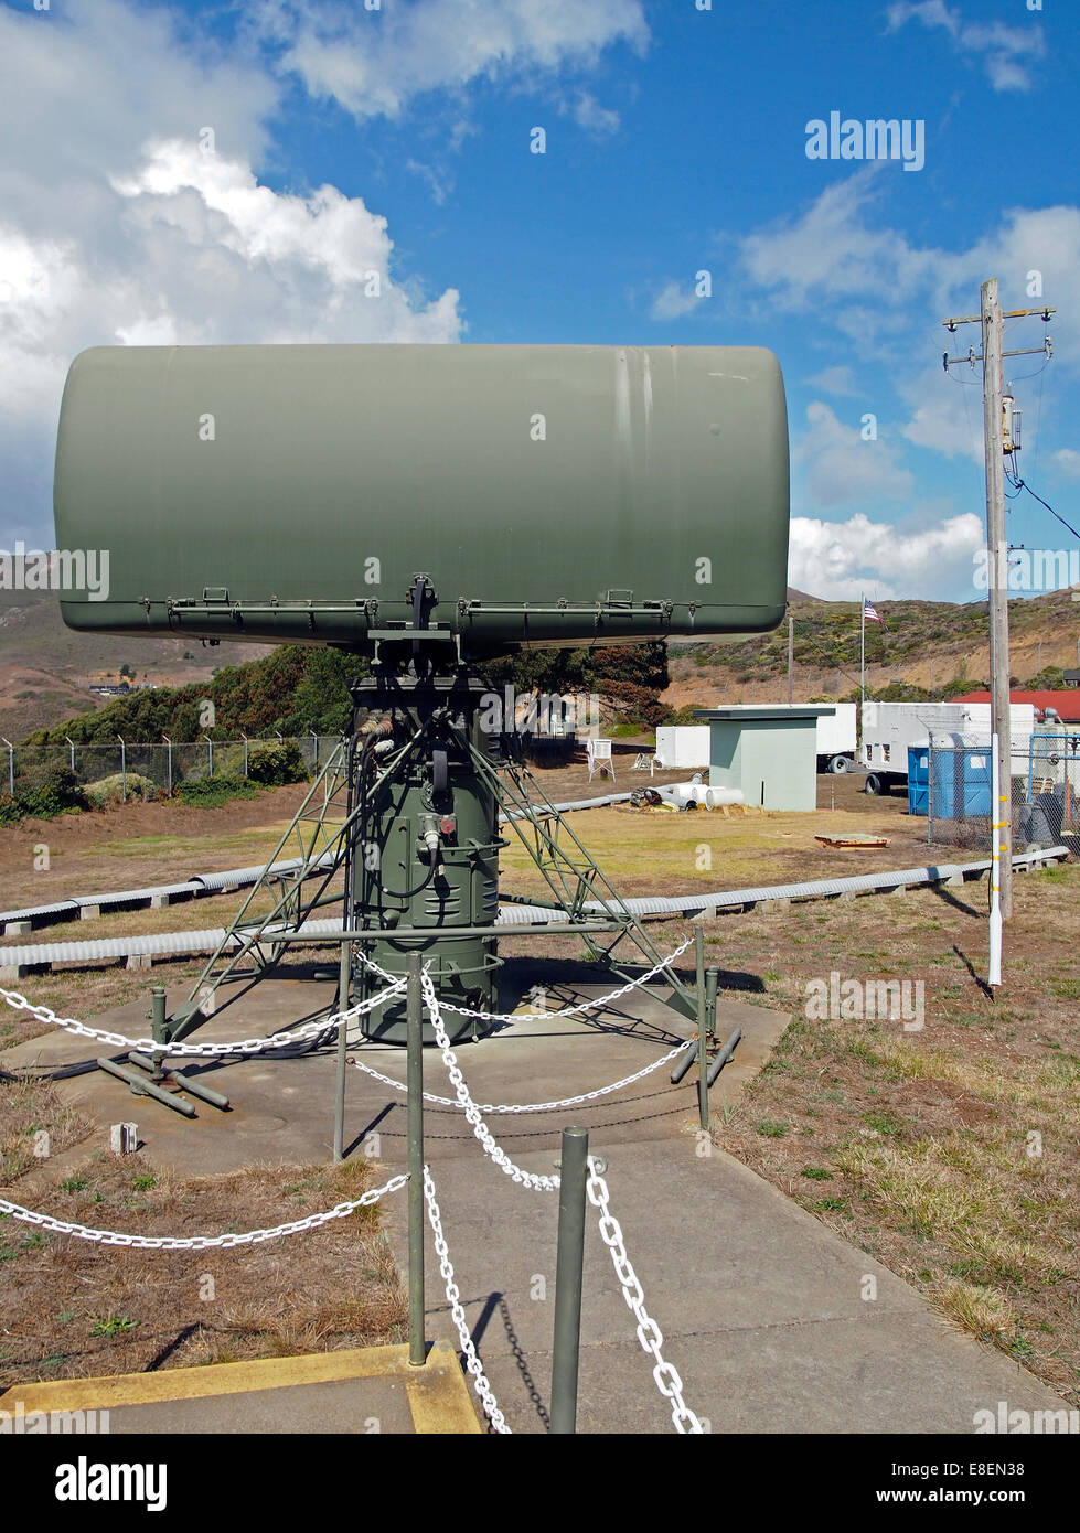
[[[479,1433],[480,1423],[457,1355],[434,1341],[423,1367],[411,1367],[407,1346],[354,1348],[305,1357],[258,1358],[170,1367],[160,1374],[117,1374],[112,1378],[58,1378],[43,1384],[12,1384],[0,1395],[0,1410],[117,1410],[212,1395],[245,1395],[290,1384],[325,1384],[348,1378],[402,1378],[413,1426],[422,1433]]]

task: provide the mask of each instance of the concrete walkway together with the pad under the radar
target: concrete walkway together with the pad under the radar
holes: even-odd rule
[[[512,961],[508,970],[517,984],[511,1004],[538,983],[552,995],[555,981],[568,981],[557,986],[552,1006],[611,989],[580,966]],[[265,1033],[318,1012],[330,995],[328,986],[264,981],[258,992],[222,1007],[198,1038]],[[138,1035],[146,1026],[143,1012],[144,1006],[123,1007],[106,1026]],[[766,1007],[721,1003],[719,1036],[742,1026],[744,1042],[713,1087],[713,1113],[759,1069],[785,1021]],[[514,1023],[457,1053],[477,1101],[535,1102],[629,1075],[683,1032],[658,1000],[632,995],[600,1021]],[[402,1050],[362,1044],[354,1052],[403,1079]],[[52,1035],[6,1058],[14,1064],[35,1055],[71,1061],[84,1052],[80,1041]],[[451,1095],[433,1052],[425,1070],[428,1090]],[[492,1114],[491,1127],[514,1160],[543,1173],[554,1170],[563,1127],[589,1128],[592,1153],[609,1162],[612,1213],[623,1225],[647,1309],[664,1332],[664,1352],[683,1375],[687,1404],[707,1418],[710,1430],[970,1433],[974,1412],[996,1410],[1002,1400],[1028,1410],[1060,1409],[1054,1392],[1016,1363],[951,1329],[907,1283],[746,1167],[710,1150],[696,1133],[693,1076],[692,1070],[683,1085],[670,1087],[664,1069],[574,1108]],[[186,1122],[97,1072],[61,1088],[106,1125],[138,1116],[150,1156],[179,1170],[224,1171],[255,1159],[328,1156],[333,1050],[239,1059],[207,1069],[204,1079],[230,1095],[233,1111],[199,1107],[199,1118]],[[430,1107],[425,1116],[426,1154],[472,1337],[511,1427],[543,1432],[557,1194],[515,1185],[482,1154],[460,1111]],[[377,1144],[390,1170],[403,1168],[403,1096],[351,1069],[345,1142],[357,1153],[365,1139]],[[403,1272],[403,1196],[384,1206]],[[592,1210],[589,1219],[578,1429],[672,1430]],[[868,1279],[876,1280],[876,1297],[867,1297],[874,1291]],[[430,1240],[426,1294],[430,1338],[456,1348]],[[264,1430],[295,1430],[285,1397],[275,1393],[267,1397]],[[199,1424],[206,1420],[192,1416],[187,1430],[215,1430]]]

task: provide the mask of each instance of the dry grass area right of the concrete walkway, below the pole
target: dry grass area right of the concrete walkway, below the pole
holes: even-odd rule
[[[979,886],[793,906],[713,938],[729,966],[764,972],[747,1000],[795,1015],[718,1141],[1074,1403],[1078,894],[1075,866],[1017,880],[996,998],[968,969],[985,972]],[[922,978],[924,1030],[808,1019],[807,980],[831,970]]]

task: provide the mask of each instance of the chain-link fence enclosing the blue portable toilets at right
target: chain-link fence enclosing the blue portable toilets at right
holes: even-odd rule
[[[913,753],[910,802],[927,814],[927,840],[989,852],[993,753],[976,734],[931,734]],[[1040,728],[1011,748],[1012,846],[1055,846],[1080,834],[1080,728]]]

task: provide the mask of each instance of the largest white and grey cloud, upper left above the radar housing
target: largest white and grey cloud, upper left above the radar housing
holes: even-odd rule
[[[259,184],[279,86],[253,52],[226,58],[183,12],[71,0],[0,6],[0,57],[8,540],[51,540],[60,392],[84,346],[460,337],[456,290],[400,273],[362,198]]]

